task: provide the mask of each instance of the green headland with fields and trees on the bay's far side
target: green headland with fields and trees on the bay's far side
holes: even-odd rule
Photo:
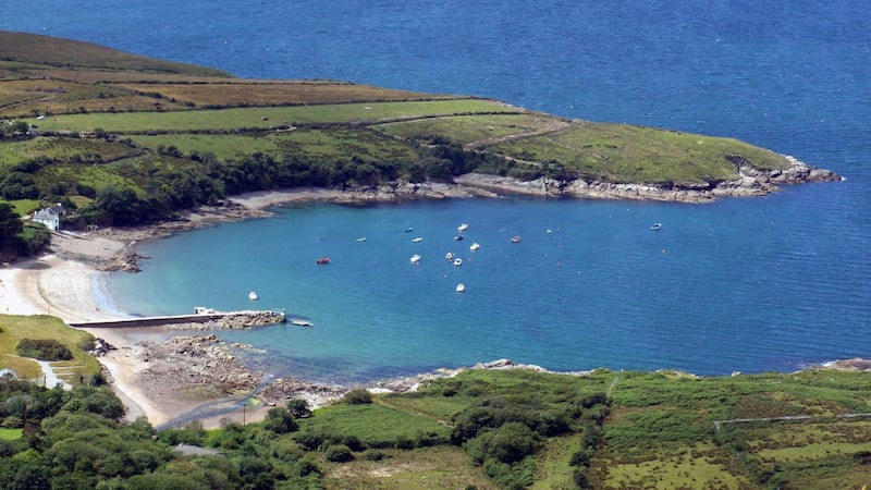
[[[62,203],[65,228],[136,225],[282,187],[451,182],[469,172],[713,186],[737,176],[736,155],[787,166],[731,139],[568,121],[493,100],[240,79],[19,33],[0,33],[0,199],[20,215]],[[7,254],[45,244],[16,236],[0,244]]]

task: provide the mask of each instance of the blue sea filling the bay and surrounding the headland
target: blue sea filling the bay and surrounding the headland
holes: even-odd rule
[[[733,137],[845,177],[704,205],[279,207],[144,242],[140,273],[103,278],[101,301],[130,315],[285,309],[312,326],[216,333],[272,376],[339,383],[498,358],[728,375],[871,357],[869,26],[864,0],[28,0],[0,16],[242,77]]]

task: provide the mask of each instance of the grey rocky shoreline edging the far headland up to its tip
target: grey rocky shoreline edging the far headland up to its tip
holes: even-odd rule
[[[502,195],[536,196],[548,198],[594,199],[649,199],[676,203],[711,203],[725,197],[758,197],[776,192],[781,185],[837,182],[843,177],[832,171],[813,168],[798,159],[784,156],[788,169],[761,170],[749,161],[731,156],[738,179],[703,184],[617,184],[578,179],[571,182],[548,177],[519,181],[513,177],[468,173],[454,177],[453,183],[428,182],[415,184],[393,182],[384,185],[355,188],[294,188],[274,192],[256,192],[232,196],[210,206],[182,211],[175,219],[138,228],[106,228],[87,232],[89,236],[107,237],[126,244],[111,258],[93,254],[58,252],[63,259],[82,261],[101,271],[124,270],[138,272],[144,257],[133,246],[140,240],[169,236],[179,231],[195,230],[222,221],[237,221],[269,216],[265,209],[275,205],[327,201],[341,205],[373,203],[402,203],[417,199],[498,198]]]

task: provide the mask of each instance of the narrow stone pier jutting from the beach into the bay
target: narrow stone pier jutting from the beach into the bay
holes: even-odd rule
[[[116,320],[82,321],[70,323],[70,327],[91,329],[119,329],[160,327],[167,324],[208,323],[210,321],[228,323],[230,328],[244,328],[257,324],[284,323],[287,317],[284,310],[243,310],[218,311],[211,308],[196,307],[193,315],[169,315],[156,317],[120,318]]]

